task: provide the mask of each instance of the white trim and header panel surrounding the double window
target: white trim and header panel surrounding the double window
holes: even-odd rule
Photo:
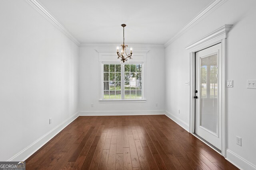
[[[102,98],[102,64],[104,63],[113,63],[113,64],[120,64],[120,59],[117,59],[116,55],[116,49],[96,49],[96,51],[99,53],[99,102],[100,103],[142,103],[146,102],[146,54],[148,53],[148,49],[134,49],[133,54],[134,56],[132,59],[129,59],[128,64],[136,64],[136,63],[142,63],[142,76],[143,76],[143,82],[142,82],[142,99],[110,99],[106,100]],[[122,63],[121,63],[122,64]],[[125,63],[126,64],[126,63]],[[100,76],[101,75],[101,76]]]

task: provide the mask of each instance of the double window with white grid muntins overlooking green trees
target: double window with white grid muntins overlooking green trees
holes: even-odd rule
[[[102,99],[143,99],[142,67],[142,63],[102,64]]]

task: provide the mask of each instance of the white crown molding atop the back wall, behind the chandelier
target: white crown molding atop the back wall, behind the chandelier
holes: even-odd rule
[[[119,43],[81,43],[80,47],[119,47]],[[131,43],[128,44],[130,48],[164,48],[162,44],[143,44],[143,43]]]

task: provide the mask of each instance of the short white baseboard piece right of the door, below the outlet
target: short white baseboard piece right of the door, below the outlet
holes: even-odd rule
[[[226,149],[226,160],[228,160],[241,170],[256,170],[255,165],[244,160],[243,158],[241,158],[240,156],[238,156],[229,149]]]

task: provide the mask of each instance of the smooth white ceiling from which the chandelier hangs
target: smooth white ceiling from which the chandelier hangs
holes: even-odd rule
[[[80,43],[164,44],[212,0],[39,0]]]

